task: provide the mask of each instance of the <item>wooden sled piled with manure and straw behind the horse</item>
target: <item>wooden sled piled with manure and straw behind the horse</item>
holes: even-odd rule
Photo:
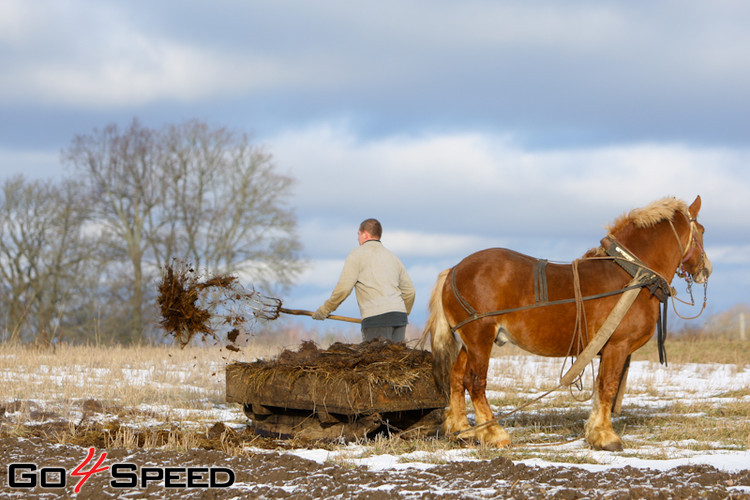
[[[226,391],[258,434],[311,441],[433,435],[447,404],[430,353],[380,340],[326,351],[305,343],[271,361],[234,363]]]

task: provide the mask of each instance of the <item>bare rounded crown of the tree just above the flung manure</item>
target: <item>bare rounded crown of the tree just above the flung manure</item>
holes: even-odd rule
[[[296,220],[286,205],[292,179],[246,134],[200,121],[164,136],[170,221],[154,254],[199,267],[244,271],[263,285],[287,285],[300,271]]]

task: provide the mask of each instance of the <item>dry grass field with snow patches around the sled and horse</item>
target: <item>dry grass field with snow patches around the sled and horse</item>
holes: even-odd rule
[[[528,461],[599,466],[613,456],[648,463],[706,454],[746,456],[750,384],[727,382],[750,379],[750,342],[672,338],[667,343],[668,367],[658,364],[652,344],[634,355],[623,411],[614,420],[626,446],[619,454],[594,452],[580,439],[591,405],[590,369],[580,391],[559,390],[503,419],[513,440],[508,449],[393,436],[313,445],[255,436],[239,405],[225,402],[224,369],[234,361],[296,348],[292,338],[283,345],[257,341],[240,352],[223,346],[0,346],[0,438],[37,443],[32,450],[45,443],[149,456],[177,454],[170,455],[171,460],[195,456],[196,450],[220,452],[226,460],[251,460],[259,450],[278,453],[312,446],[326,450],[327,467],[347,473],[380,456],[399,457],[402,464],[446,467],[457,455],[494,467],[498,460],[508,467]],[[510,412],[554,387],[561,363],[512,347],[497,349],[488,374],[495,413]],[[16,449],[15,460],[36,453]]]

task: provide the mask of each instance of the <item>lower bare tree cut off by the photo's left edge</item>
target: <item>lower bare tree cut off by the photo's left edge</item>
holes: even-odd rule
[[[81,193],[72,182],[7,180],[0,199],[0,293],[5,331],[49,343],[70,324],[91,256]]]

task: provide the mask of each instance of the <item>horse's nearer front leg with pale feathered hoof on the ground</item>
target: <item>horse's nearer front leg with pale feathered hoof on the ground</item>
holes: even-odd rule
[[[627,356],[628,353],[622,348],[605,346],[602,350],[594,405],[585,427],[586,442],[596,450],[622,450],[622,440],[612,428],[612,407]]]

